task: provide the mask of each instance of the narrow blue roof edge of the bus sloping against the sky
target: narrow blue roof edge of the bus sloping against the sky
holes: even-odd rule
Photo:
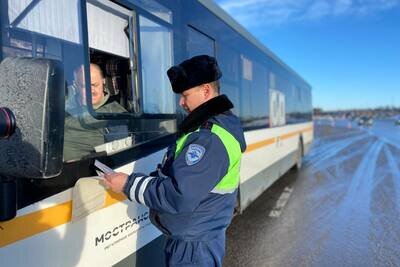
[[[262,44],[257,38],[255,38],[248,30],[246,30],[242,25],[240,25],[236,20],[234,20],[225,10],[219,7],[217,4],[214,3],[213,0],[198,0],[200,4],[205,6],[208,10],[214,13],[217,17],[223,20],[226,24],[232,27],[235,31],[241,34],[244,38],[254,44],[256,47],[261,49],[264,53],[270,56],[276,63],[283,66],[289,72],[293,73],[303,82],[305,82],[310,88],[311,85],[304,80],[296,71],[294,71],[291,67],[286,65],[277,55],[275,55],[271,50],[269,50],[264,44]]]

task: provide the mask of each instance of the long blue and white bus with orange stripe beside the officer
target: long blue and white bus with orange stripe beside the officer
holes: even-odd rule
[[[73,193],[95,160],[156,168],[185,116],[166,70],[189,57],[217,58],[245,130],[237,214],[310,148],[311,86],[210,0],[2,0],[0,26],[2,266],[164,264],[146,207],[89,186],[72,220]],[[90,63],[123,112],[92,105]]]

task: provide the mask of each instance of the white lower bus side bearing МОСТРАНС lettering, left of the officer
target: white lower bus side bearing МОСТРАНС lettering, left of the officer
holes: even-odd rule
[[[161,150],[115,171],[151,172],[164,153]],[[71,201],[72,189],[68,189],[19,210],[14,220],[3,223],[0,241],[3,263],[6,266],[27,263],[29,266],[110,266],[161,235],[150,223],[148,208],[130,202],[123,195],[108,193],[105,208],[75,222],[71,221]],[[21,225],[23,231],[19,228]],[[21,257],[21,251],[29,251],[29,257]]]

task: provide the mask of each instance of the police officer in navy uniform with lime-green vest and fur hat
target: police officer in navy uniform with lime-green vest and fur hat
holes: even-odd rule
[[[232,103],[219,95],[222,74],[213,57],[193,57],[167,74],[189,113],[176,143],[156,172],[110,174],[104,185],[150,208],[152,223],[166,236],[167,266],[222,266],[246,148],[243,130]]]

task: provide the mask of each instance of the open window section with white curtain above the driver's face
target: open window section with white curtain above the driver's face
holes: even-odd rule
[[[133,89],[129,60],[132,57],[130,53],[132,36],[129,31],[131,31],[132,12],[109,1],[91,1],[86,7],[90,62],[100,69],[103,93],[107,102],[119,103],[125,111],[131,111]],[[96,79],[91,77],[91,83],[94,80]],[[96,101],[97,92],[93,85],[96,84],[91,84],[91,94],[86,92],[86,95],[91,95],[94,100],[92,107],[96,112],[121,112],[99,110],[99,103]]]

